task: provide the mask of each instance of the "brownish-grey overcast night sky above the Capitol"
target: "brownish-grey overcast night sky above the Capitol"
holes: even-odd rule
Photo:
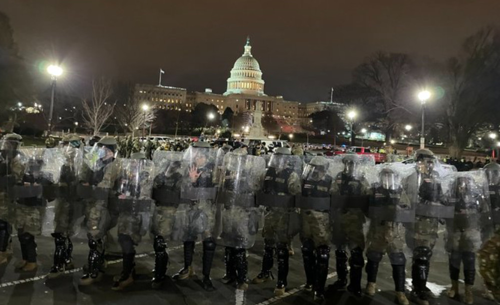
[[[481,26],[500,24],[499,0],[0,0],[21,54],[65,68],[61,86],[83,91],[93,76],[188,90],[226,89],[251,36],[265,92],[326,99],[332,85],[377,50],[444,59]]]

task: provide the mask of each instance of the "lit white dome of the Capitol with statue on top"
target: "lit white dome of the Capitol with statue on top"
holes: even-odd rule
[[[240,58],[236,60],[231,69],[231,76],[227,79],[228,94],[264,94],[264,80],[262,80],[262,71],[259,62],[252,56],[252,46],[250,38],[247,37],[245,51]]]

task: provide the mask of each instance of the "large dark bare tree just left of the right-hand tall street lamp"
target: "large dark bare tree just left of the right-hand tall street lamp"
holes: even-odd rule
[[[403,91],[409,83],[410,59],[401,53],[377,52],[354,70],[354,82],[370,90],[378,98],[371,106],[380,112],[379,124],[386,139],[394,131],[397,118],[411,113],[405,106]]]

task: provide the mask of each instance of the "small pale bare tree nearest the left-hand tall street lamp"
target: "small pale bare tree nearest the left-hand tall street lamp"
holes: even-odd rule
[[[116,101],[111,100],[112,92],[111,81],[101,77],[92,80],[91,100],[82,100],[84,124],[93,135],[97,135],[113,115]]]

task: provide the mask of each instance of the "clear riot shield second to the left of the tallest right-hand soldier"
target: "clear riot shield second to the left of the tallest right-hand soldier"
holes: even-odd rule
[[[343,154],[333,159],[335,179],[332,190],[332,212],[361,210],[368,213],[371,184],[375,181],[375,159],[372,155]]]

